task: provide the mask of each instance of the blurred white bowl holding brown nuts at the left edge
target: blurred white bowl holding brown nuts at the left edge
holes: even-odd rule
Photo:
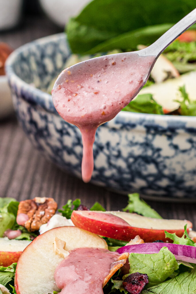
[[[0,76],[0,119],[14,111],[7,76]]]

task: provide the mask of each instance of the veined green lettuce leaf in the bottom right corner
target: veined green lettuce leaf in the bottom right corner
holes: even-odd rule
[[[195,294],[196,265],[191,271],[186,271],[159,285],[142,291],[142,294]]]

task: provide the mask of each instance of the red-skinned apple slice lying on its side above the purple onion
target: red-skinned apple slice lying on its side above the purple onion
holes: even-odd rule
[[[166,241],[165,230],[182,237],[186,224],[187,231],[192,228],[192,223],[188,220],[147,218],[120,211],[73,211],[71,220],[74,225],[84,230],[125,241],[130,241],[136,235],[144,242]]]

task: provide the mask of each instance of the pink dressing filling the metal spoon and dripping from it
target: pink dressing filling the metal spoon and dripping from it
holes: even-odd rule
[[[92,63],[92,60],[94,61]],[[78,70],[65,69],[52,90],[60,116],[76,125],[82,134],[82,178],[91,180],[93,143],[98,126],[111,120],[140,91],[155,56],[120,53],[82,63]]]

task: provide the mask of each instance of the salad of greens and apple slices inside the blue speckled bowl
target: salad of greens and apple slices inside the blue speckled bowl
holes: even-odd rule
[[[151,0],[148,5],[144,0],[91,1],[66,26],[73,54],[64,67],[104,54],[136,51],[141,49],[141,44],[148,46],[194,8],[193,0],[183,0],[180,3],[177,0],[163,0],[161,4]],[[192,83],[196,78],[195,28],[196,25],[193,25],[165,49],[161,55],[165,59],[159,63],[158,70],[154,67],[154,72],[151,72],[145,85],[148,90],[144,91],[143,88],[123,111],[196,115],[196,97]],[[189,77],[190,72],[195,74],[188,81],[186,75]],[[166,83],[171,79],[174,80],[172,83]],[[48,87],[48,93],[51,93],[55,80],[56,78]],[[160,87],[154,87],[159,84]],[[167,88],[165,97],[162,95],[159,98],[164,87]]]

